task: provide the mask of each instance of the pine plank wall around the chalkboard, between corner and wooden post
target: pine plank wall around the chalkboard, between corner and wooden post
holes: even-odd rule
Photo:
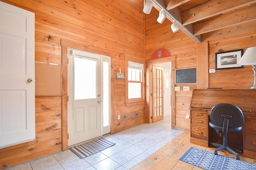
[[[182,31],[172,32],[170,26],[172,22],[165,19],[162,24],[158,23],[159,12],[152,8],[150,14],[145,15],[145,50],[146,60],[149,60],[152,53],[158,49],[165,49],[170,53],[170,56],[176,56],[173,61],[175,68],[172,68],[172,76],[175,75],[175,69],[197,67],[197,45]],[[173,71],[174,70],[174,71]],[[173,86],[173,85],[172,85]],[[190,114],[190,100],[192,90],[197,87],[197,84],[174,84],[180,86],[180,91],[176,91],[175,95],[175,115],[172,116],[175,125],[172,127],[180,130],[190,131],[190,120],[185,119],[186,114]],[[190,91],[183,91],[183,86],[190,86]],[[173,91],[174,92],[174,91]],[[173,114],[173,113],[172,113]]]

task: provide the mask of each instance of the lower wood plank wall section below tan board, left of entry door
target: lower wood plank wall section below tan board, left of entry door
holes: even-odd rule
[[[36,139],[0,149],[0,169],[60,151],[61,117],[61,96],[36,98]]]

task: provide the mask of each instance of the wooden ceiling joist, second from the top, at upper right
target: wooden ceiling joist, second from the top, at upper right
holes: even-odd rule
[[[195,23],[243,6],[248,6],[252,3],[256,3],[256,0],[210,0],[182,12],[182,24]]]

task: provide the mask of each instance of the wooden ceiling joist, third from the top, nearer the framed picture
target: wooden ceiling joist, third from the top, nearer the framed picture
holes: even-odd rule
[[[256,4],[243,8],[242,10],[234,10],[225,15],[216,16],[209,20],[199,21],[193,24],[194,35],[208,33],[218,29],[239,25],[242,23],[256,20]]]

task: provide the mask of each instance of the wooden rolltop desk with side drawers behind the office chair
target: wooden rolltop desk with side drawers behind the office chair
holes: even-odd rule
[[[243,150],[243,156],[256,159],[256,90],[195,89],[190,102],[190,142],[205,147],[222,140],[209,127],[210,111],[220,103],[238,106],[244,114],[243,131],[228,134],[231,147]],[[222,142],[220,142],[222,143]]]

